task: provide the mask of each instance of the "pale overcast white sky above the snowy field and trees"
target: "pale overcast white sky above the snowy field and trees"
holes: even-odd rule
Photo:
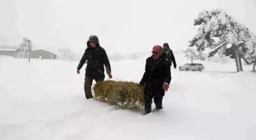
[[[37,48],[82,53],[94,34],[109,54],[150,52],[164,42],[178,51],[196,34],[197,14],[213,8],[256,33],[255,0],[0,0],[0,44],[27,37]]]

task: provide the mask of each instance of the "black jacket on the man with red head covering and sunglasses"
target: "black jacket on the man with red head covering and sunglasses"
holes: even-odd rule
[[[162,86],[165,82],[168,85],[171,82],[171,70],[166,54],[163,53],[157,60],[152,58],[152,56],[147,58],[145,73],[139,85],[145,86],[147,89],[162,90]]]

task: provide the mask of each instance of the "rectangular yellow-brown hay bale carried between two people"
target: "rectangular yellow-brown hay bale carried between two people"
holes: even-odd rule
[[[106,80],[93,87],[94,98],[117,104],[126,108],[142,108],[144,106],[143,87],[135,82]]]

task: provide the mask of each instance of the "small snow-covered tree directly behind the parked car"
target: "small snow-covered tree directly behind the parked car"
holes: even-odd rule
[[[194,60],[200,60],[200,61],[205,60],[203,52],[202,51],[197,51],[197,48],[188,47],[186,49],[186,51],[184,51],[184,53],[186,53],[184,57],[190,59],[191,63],[193,63]]]

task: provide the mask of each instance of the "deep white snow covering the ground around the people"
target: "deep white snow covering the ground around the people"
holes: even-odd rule
[[[256,139],[256,75],[234,64],[172,70],[164,110],[146,116],[86,100],[77,64],[0,57],[0,139]],[[139,82],[145,58],[111,64],[117,80]]]

